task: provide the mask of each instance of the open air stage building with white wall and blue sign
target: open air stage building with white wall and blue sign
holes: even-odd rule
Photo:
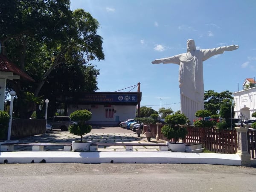
[[[81,94],[78,98],[66,96],[67,115],[76,110],[92,113],[91,125],[113,126],[136,117],[140,106],[141,92],[93,92]]]

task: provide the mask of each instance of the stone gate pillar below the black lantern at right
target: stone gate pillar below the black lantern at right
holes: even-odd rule
[[[247,131],[248,128],[246,127],[235,127],[237,132],[237,154],[239,154],[241,158],[241,165],[242,166],[250,166],[250,154],[248,152],[248,143],[247,143]]]

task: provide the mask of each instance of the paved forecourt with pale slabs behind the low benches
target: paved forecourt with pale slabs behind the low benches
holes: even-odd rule
[[[70,134],[69,131],[53,130],[47,134],[35,135],[19,139],[19,143],[63,143],[80,140],[80,136]],[[89,134],[83,136],[83,140],[100,143],[164,143],[151,138],[147,141],[145,134],[140,134],[121,127],[94,127]],[[62,151],[63,146],[45,146],[44,151]],[[15,146],[14,151],[32,151],[32,146]],[[98,151],[125,151],[125,146],[99,146]],[[134,146],[133,151],[159,151],[158,146]]]

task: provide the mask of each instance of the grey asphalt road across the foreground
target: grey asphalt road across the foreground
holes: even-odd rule
[[[0,164],[4,192],[256,191],[256,169],[201,164]]]

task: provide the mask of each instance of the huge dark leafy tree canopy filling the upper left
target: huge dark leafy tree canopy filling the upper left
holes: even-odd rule
[[[8,0],[1,1],[0,14],[1,53],[35,80],[8,81],[7,90],[14,89],[19,100],[17,115],[27,119],[35,111],[36,99],[30,109],[22,106],[28,92],[53,98],[54,112],[54,98],[98,90],[99,70],[89,62],[105,55],[99,22],[90,13],[70,10],[69,0]]]

